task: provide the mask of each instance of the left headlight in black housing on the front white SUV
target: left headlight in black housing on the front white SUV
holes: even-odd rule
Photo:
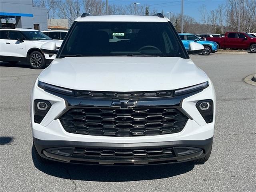
[[[34,100],[34,122],[40,123],[51,108],[51,103],[46,100]]]

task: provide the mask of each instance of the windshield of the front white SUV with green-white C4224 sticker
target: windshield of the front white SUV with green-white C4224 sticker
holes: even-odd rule
[[[168,22],[76,22],[59,58],[66,56],[186,58]]]

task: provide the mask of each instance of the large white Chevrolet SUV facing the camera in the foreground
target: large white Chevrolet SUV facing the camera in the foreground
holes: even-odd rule
[[[52,53],[54,46],[41,48]],[[203,49],[192,42],[188,52]],[[32,90],[38,160],[206,162],[214,135],[215,91],[188,52],[162,14],[77,18]]]

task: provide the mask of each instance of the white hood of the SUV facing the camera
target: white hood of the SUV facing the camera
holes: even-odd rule
[[[66,57],[54,61],[39,81],[75,90],[173,90],[208,81],[191,59],[170,57]]]

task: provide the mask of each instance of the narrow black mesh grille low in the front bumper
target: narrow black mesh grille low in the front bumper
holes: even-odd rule
[[[142,149],[75,148],[72,157],[104,160],[139,160],[175,157],[171,147]]]

